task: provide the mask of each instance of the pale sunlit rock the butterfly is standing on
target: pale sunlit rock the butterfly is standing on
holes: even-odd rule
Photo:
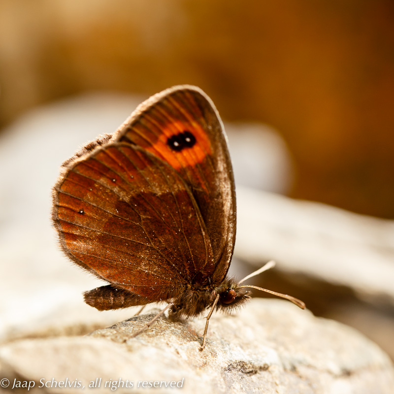
[[[201,318],[171,322],[164,317],[130,339],[156,311],[83,337],[9,343],[0,349],[0,374],[10,385],[14,379],[35,382],[38,393],[42,382],[53,386],[52,379],[66,378],[81,382],[84,391],[101,378],[100,387],[91,389],[95,393],[110,392],[109,385],[121,393],[150,391],[155,381],[175,382],[173,391],[191,394],[393,393],[393,364],[379,347],[354,329],[286,301],[253,299],[236,315],[214,314],[202,352]],[[129,387],[120,389],[127,380]],[[147,387],[140,383],[138,389],[140,381]],[[151,390],[168,391],[163,385]],[[79,390],[45,388],[46,393]]]

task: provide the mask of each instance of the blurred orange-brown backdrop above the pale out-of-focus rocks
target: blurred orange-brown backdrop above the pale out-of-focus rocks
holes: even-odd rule
[[[282,133],[292,197],[394,218],[391,0],[0,1],[0,126],[82,91],[181,83]]]

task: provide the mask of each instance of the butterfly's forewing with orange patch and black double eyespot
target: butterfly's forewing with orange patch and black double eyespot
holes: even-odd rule
[[[235,192],[226,136],[212,101],[196,87],[168,89],[142,103],[114,139],[151,152],[189,186],[212,245],[212,281],[220,283],[235,241]]]

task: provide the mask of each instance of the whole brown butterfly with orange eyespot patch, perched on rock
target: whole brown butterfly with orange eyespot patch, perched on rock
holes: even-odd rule
[[[226,277],[234,179],[219,114],[197,87],[151,97],[113,135],[77,152],[62,166],[53,202],[63,251],[109,283],[85,292],[87,304],[108,310],[168,303],[133,336],[168,308],[176,317],[211,308],[202,350],[213,310],[250,298],[248,286]]]

